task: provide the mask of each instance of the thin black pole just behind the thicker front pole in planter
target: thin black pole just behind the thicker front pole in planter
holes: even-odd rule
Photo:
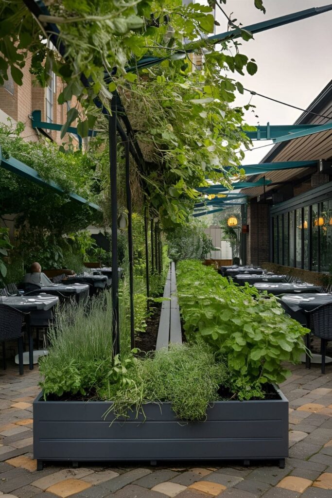
[[[135,325],[134,325],[134,256],[132,249],[132,206],[129,177],[129,139],[124,142],[125,152],[125,190],[128,211],[128,257],[129,257],[129,301],[130,301],[130,345],[135,347]]]

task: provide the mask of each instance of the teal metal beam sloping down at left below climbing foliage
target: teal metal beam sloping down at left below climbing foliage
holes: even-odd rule
[[[50,181],[47,182],[46,180],[43,180],[41,176],[39,176],[38,172],[30,168],[27,164],[24,164],[21,161],[18,161],[17,159],[14,159],[13,157],[9,157],[8,159],[5,159],[2,156],[1,153],[1,147],[0,147],[0,167],[11,171],[12,173],[15,173],[16,175],[20,176],[21,178],[25,178],[26,180],[29,180],[33,183],[36,183],[37,185],[40,185],[42,187],[50,188],[54,190],[57,194],[66,194],[68,195],[71,199],[74,201],[81,202],[82,204],[88,205],[92,209],[96,209],[98,211],[101,211],[100,206],[97,204],[94,204],[93,202],[89,202],[80,195],[77,194],[67,194],[59,185],[57,185],[55,182]]]

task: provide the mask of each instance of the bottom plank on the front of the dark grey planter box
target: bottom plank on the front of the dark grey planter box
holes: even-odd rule
[[[47,439],[34,446],[37,460],[246,460],[287,456],[281,438],[274,439]]]

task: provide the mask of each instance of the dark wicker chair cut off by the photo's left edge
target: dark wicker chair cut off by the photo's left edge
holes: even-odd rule
[[[23,315],[19,311],[0,304],[0,342],[2,343],[3,370],[6,369],[5,341],[18,341],[18,368],[19,374],[23,375]]]

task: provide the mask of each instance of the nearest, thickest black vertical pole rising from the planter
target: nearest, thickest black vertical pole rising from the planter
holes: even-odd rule
[[[119,337],[119,296],[118,296],[118,261],[117,261],[117,191],[116,191],[116,96],[111,100],[111,116],[109,116],[109,153],[111,180],[111,230],[112,230],[112,343],[113,356],[120,352]]]

